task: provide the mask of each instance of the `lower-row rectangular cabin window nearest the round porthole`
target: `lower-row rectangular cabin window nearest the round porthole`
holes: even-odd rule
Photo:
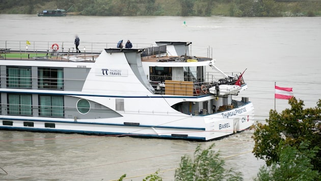
[[[64,97],[63,96],[39,96],[39,115],[64,117]]]

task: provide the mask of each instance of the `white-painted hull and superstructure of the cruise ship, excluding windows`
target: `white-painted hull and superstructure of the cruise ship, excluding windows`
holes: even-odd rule
[[[169,50],[173,51],[175,48]],[[170,67],[174,71],[174,68],[178,70],[187,66],[212,65],[211,59],[188,63],[142,62],[139,51],[105,49],[94,62],[50,62],[50,67],[55,69],[80,70],[83,74],[87,71],[88,75],[84,76],[84,80],[68,79],[67,76],[73,77],[76,72],[70,75],[64,72],[64,90],[37,88],[37,76],[31,78],[33,84],[36,84],[32,88],[0,88],[2,100],[6,100],[8,95],[31,95],[33,107],[36,107],[33,108],[32,115],[26,116],[21,112],[16,113],[21,115],[16,115],[9,111],[10,101],[3,101],[0,129],[207,141],[244,131],[254,124],[254,108],[251,102],[234,101],[228,94],[215,97],[202,93],[199,83],[193,84],[192,95],[188,95],[190,93],[185,91],[187,88],[182,89],[181,86],[178,88],[179,91],[170,92],[172,89],[168,87],[171,84],[163,82],[162,85],[166,85],[164,88],[168,88],[166,91],[170,93],[156,93],[150,84],[152,66],[163,66],[164,69]],[[0,60],[0,63],[2,75],[7,74],[4,70],[8,67],[27,66],[37,72],[37,68],[48,66],[47,61],[12,59]],[[74,86],[68,88],[67,82],[73,84],[79,81],[83,81],[83,84],[75,84],[75,87],[81,85],[78,90],[73,90]],[[1,82],[6,82],[6,78]],[[180,84],[185,82],[189,81],[181,81]],[[156,85],[159,85],[159,82]],[[247,87],[246,84],[244,86]],[[64,97],[62,116],[40,116],[41,105],[37,103],[44,95]],[[76,111],[75,105],[79,100],[87,100],[90,103],[89,113]]]

